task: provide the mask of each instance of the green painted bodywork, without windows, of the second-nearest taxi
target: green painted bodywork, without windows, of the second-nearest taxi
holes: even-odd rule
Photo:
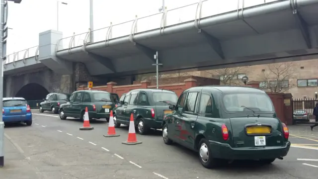
[[[128,104],[122,104],[114,108],[117,123],[129,125],[130,116],[131,114],[133,114],[135,125],[137,125],[139,119],[142,118],[144,120],[145,127],[161,129],[162,121],[164,117],[163,110],[169,110],[169,105],[161,103],[161,102],[160,104],[156,103],[152,98],[152,94],[154,92],[162,92],[162,91],[171,93],[175,95],[177,98],[177,95],[173,91],[161,90],[161,89],[134,89],[125,93],[126,97],[129,97],[131,94],[138,95],[139,92],[143,92],[147,95],[147,102],[143,104],[137,104],[137,103],[132,104],[132,102],[130,102],[130,99],[129,99]],[[155,117],[152,117],[152,114],[151,114],[152,109],[155,110]]]

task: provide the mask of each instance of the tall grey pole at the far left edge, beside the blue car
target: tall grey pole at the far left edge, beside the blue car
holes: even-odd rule
[[[7,0],[7,1],[13,1],[14,3],[20,3],[21,0]],[[4,28],[4,25],[6,23],[8,10],[7,10],[7,1],[1,0],[1,8],[0,8],[0,59],[1,59],[1,65],[0,65],[0,108],[3,109],[2,106],[2,98],[3,98],[3,45],[4,45],[4,31],[7,30],[7,28]],[[4,137],[4,123],[2,121],[2,113],[0,113],[0,168],[4,165],[4,144],[3,144],[3,137]]]

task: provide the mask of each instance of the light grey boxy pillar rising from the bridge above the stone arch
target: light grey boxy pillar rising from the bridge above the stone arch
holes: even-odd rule
[[[63,33],[48,30],[39,34],[39,61],[49,69],[62,75],[73,74],[72,62],[56,57],[56,50],[62,49]],[[59,43],[59,44],[58,44]]]

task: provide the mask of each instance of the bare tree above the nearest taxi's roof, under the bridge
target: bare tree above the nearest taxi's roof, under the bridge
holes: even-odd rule
[[[206,71],[212,78],[220,79],[220,84],[237,86],[242,85],[241,78],[247,75],[248,67],[223,68],[218,70]]]

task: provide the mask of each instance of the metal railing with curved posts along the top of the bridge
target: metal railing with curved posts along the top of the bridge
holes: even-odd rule
[[[140,18],[136,15],[135,19],[126,22],[118,24],[112,24],[111,22],[108,27],[93,31],[90,31],[89,29],[88,32],[77,35],[74,33],[73,36],[60,39],[56,51],[101,41],[105,41],[105,45],[108,45],[110,39],[123,36],[130,36],[130,38],[132,38],[136,33],[154,29],[160,29],[160,33],[163,33],[165,26],[176,25],[191,20],[194,20],[194,26],[197,27],[201,18],[233,10],[237,10],[239,15],[239,11],[243,8],[273,1],[278,0],[199,0],[197,3],[170,9],[166,12],[160,12]],[[93,41],[89,39],[91,32],[94,33]]]

